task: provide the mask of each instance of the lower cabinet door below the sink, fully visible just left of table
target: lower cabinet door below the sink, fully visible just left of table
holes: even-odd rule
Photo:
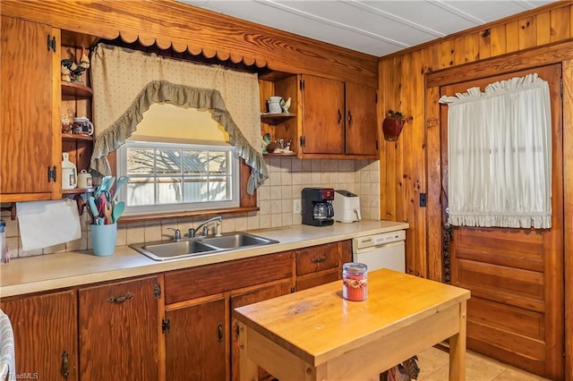
[[[166,311],[166,378],[227,380],[225,299]]]

